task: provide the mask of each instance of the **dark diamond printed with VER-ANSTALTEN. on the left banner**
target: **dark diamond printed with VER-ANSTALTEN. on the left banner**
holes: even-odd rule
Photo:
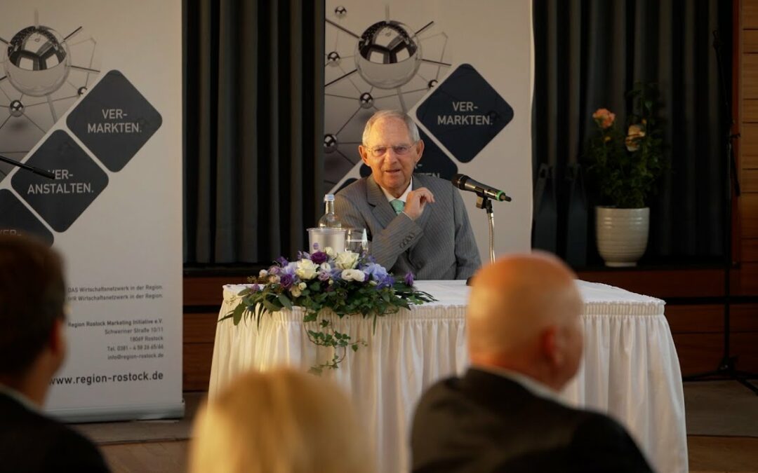
[[[11,185],[56,232],[65,232],[108,185],[105,171],[62,130],[53,132],[27,164],[53,171],[55,180],[17,172]]]

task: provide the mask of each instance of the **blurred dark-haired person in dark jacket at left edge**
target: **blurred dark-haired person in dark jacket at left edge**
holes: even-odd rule
[[[108,471],[94,444],[41,411],[66,356],[61,258],[0,235],[0,471]]]

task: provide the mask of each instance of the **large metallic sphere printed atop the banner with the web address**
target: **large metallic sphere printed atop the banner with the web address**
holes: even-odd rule
[[[5,73],[24,95],[42,97],[60,89],[70,71],[63,36],[48,26],[28,26],[8,44]]]

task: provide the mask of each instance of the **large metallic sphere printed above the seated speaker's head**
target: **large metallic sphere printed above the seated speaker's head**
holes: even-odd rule
[[[398,21],[368,26],[356,46],[356,69],[378,89],[396,89],[409,82],[421,65],[421,43]]]

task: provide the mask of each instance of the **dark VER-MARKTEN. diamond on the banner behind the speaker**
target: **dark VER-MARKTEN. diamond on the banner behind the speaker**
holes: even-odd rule
[[[468,163],[513,120],[513,108],[471,64],[461,64],[418,106],[416,118]]]

